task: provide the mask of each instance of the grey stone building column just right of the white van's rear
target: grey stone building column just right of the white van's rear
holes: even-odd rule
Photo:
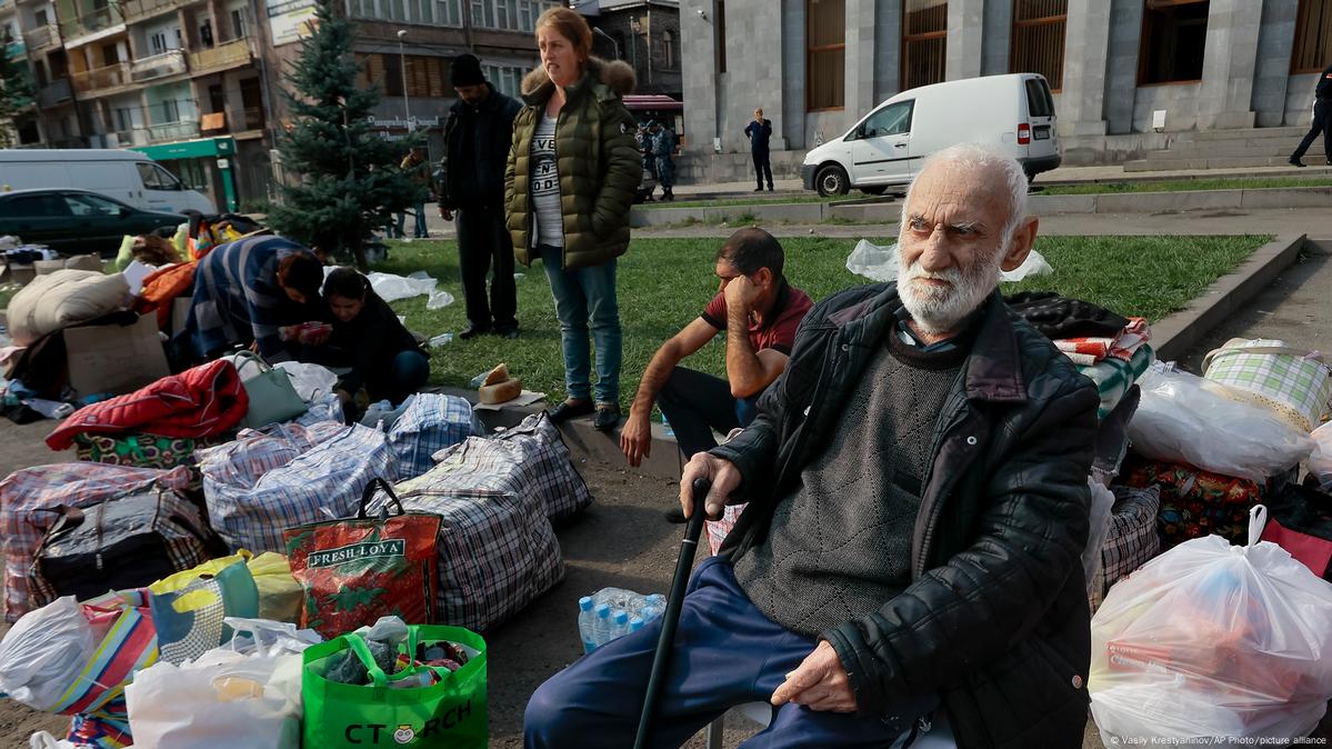
[[[1064,21],[1064,84],[1059,135],[1106,135],[1106,67],[1110,3],[1068,0]]]

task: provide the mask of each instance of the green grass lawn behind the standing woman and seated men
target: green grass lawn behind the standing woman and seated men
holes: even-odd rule
[[[702,312],[717,292],[713,259],[717,239],[635,239],[619,260],[619,315],[623,324],[621,405],[629,405],[638,377],[662,341]],[[1124,315],[1160,320],[1201,295],[1212,281],[1233,271],[1267,236],[1240,237],[1042,237],[1036,248],[1055,268],[1054,275],[1006,284],[1004,292],[1052,289]],[[872,240],[888,244],[888,239]],[[838,289],[868,283],[846,269],[855,240],[826,237],[783,239],[787,277],[815,300]],[[397,301],[408,327],[428,336],[465,325],[457,249],[452,241],[393,243],[390,260],[377,271],[408,275],[426,271],[440,288],[460,297],[454,304],[426,311],[425,297]],[[505,361],[523,386],[550,398],[565,394],[559,355],[559,324],[541,264],[518,267],[518,340],[482,336],[433,349],[432,382],[465,386],[472,377]],[[689,365],[725,374],[721,336],[690,357]]]

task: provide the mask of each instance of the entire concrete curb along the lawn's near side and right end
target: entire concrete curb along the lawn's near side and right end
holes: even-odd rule
[[[1152,324],[1152,347],[1158,359],[1169,361],[1183,357],[1203,335],[1291,267],[1305,241],[1305,235],[1285,235],[1260,247],[1233,273],[1217,279],[1203,296],[1191,301],[1183,311]],[[1332,243],[1328,247],[1332,248]],[[1319,247],[1312,249],[1323,252]],[[476,401],[477,396],[476,390],[461,388],[438,388],[436,392],[465,397],[469,401]],[[554,405],[541,401],[527,406],[477,410],[477,414],[488,429],[496,430],[515,426],[529,414],[541,413]],[[609,433],[598,432],[591,425],[591,417],[582,417],[561,424],[559,432],[575,462],[595,460],[627,468],[625,454],[619,449],[618,429]],[[674,480],[679,478],[682,466],[683,457],[675,437],[666,434],[662,425],[654,421],[650,456],[637,470],[646,476]]]

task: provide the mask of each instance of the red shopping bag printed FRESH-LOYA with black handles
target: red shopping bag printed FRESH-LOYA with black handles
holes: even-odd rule
[[[398,514],[366,517],[377,489]],[[436,624],[440,522],[437,514],[405,512],[389,484],[374,478],[356,517],[286,529],[292,574],[305,589],[301,624],[328,638],[389,614]]]

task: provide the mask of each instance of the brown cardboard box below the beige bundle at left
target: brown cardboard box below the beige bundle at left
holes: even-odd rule
[[[133,325],[65,328],[69,386],[79,396],[131,393],[170,374],[157,316]]]

